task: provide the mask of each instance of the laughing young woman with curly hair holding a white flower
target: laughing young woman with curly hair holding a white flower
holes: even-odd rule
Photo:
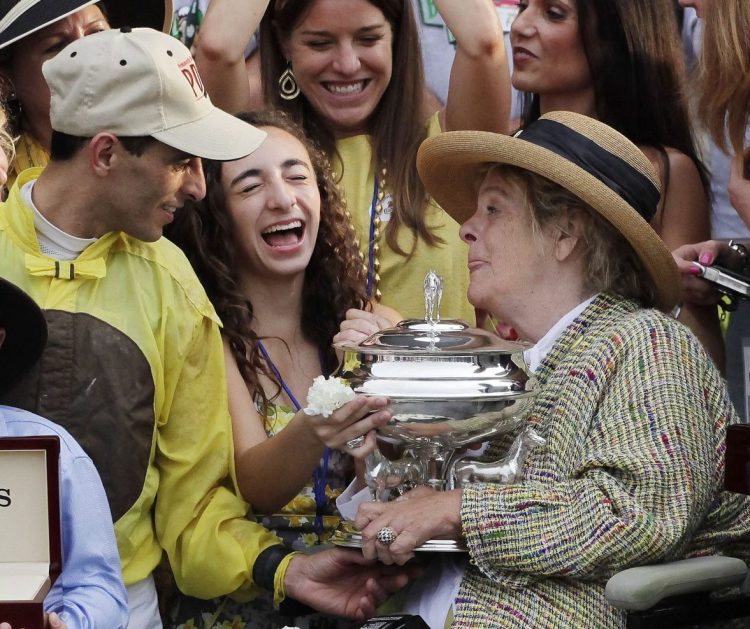
[[[349,308],[366,306],[362,260],[322,154],[283,114],[239,117],[266,140],[234,162],[205,160],[206,198],[180,212],[168,236],[224,324],[242,494],[259,521],[305,550],[338,525],[335,497],[353,476],[346,452],[367,453],[372,429],[390,414],[384,398],[364,396],[330,417],[302,410],[313,379],[338,364],[331,339],[339,322]],[[364,434],[364,446],[347,445]],[[248,628],[281,620],[271,597],[244,605],[182,598],[173,611],[177,625],[207,611]]]

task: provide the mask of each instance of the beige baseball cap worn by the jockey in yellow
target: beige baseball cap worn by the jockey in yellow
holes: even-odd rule
[[[265,132],[211,103],[190,51],[150,28],[81,37],[42,66],[55,131],[150,135],[190,155],[233,160]]]

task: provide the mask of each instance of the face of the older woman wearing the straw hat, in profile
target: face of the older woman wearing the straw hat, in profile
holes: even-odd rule
[[[553,245],[543,232],[532,229],[524,191],[497,168],[490,169],[479,187],[477,211],[461,226],[469,245],[469,301],[508,323],[517,308],[538,299],[537,288],[548,279]]]

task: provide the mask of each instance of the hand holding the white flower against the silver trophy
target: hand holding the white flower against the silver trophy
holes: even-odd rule
[[[357,395],[330,416],[307,415],[307,420],[326,447],[364,458],[375,449],[375,431],[391,419],[387,405],[387,398]]]

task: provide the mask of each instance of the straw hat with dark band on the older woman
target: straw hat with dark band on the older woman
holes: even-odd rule
[[[546,177],[596,210],[630,243],[671,310],[680,297],[672,254],[649,225],[660,199],[657,175],[635,144],[580,114],[545,114],[515,136],[450,131],[428,138],[417,169],[432,197],[459,223],[476,211],[480,177],[488,164],[508,164]]]

